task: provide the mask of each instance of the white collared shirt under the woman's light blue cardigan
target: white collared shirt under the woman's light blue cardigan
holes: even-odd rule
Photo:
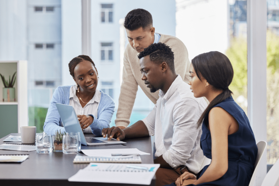
[[[77,115],[88,115],[92,114],[95,117],[98,117],[98,107],[101,100],[101,92],[96,89],[93,98],[82,108],[78,96],[76,95],[76,85],[71,86],[70,88],[70,103],[75,109]],[[83,133],[92,133],[91,128],[88,126],[86,129],[83,129]]]

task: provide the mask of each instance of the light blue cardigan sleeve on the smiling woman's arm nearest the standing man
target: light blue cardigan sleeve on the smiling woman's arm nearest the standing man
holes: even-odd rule
[[[114,102],[113,99],[101,92],[101,99],[98,107],[98,117],[96,118],[94,115],[89,114],[94,118],[93,123],[90,125],[91,131],[95,135],[102,135],[103,128],[108,128],[111,122],[111,118],[114,113]]]

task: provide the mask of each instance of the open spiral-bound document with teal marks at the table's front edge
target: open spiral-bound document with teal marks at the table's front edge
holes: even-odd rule
[[[140,166],[147,170],[133,168],[133,166]],[[68,181],[150,185],[159,167],[160,164],[90,163]]]

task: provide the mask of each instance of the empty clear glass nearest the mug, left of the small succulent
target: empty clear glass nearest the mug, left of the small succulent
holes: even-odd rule
[[[52,152],[52,137],[43,132],[36,136],[36,150],[37,153],[51,153]]]

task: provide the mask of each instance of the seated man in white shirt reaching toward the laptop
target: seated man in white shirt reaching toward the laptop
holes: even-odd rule
[[[197,121],[207,106],[205,100],[195,98],[190,85],[175,73],[174,54],[166,44],[151,44],[138,58],[142,80],[151,92],[160,89],[159,99],[143,120],[123,130],[103,129],[102,135],[117,140],[155,135],[154,163],[161,165],[156,185],[175,182],[185,171],[197,174],[204,157]]]

